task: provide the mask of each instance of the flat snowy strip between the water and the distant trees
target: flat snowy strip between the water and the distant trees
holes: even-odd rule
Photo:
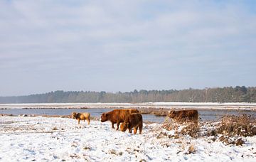
[[[164,109],[238,109],[256,110],[256,103],[211,103],[211,102],[145,102],[145,103],[35,103],[0,104],[0,109],[40,108],[164,108]]]

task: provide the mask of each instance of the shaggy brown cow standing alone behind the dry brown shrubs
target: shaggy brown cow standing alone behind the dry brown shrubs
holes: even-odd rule
[[[198,122],[198,111],[196,109],[170,111],[168,117],[175,119],[176,121],[194,121]]]

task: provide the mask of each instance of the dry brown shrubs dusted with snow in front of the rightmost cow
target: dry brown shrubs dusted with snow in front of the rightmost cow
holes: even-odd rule
[[[182,136],[205,137],[208,138],[209,143],[221,141],[225,145],[242,146],[242,144],[245,144],[246,136],[256,135],[256,120],[246,114],[225,116],[218,122],[201,121],[201,124],[190,121],[181,122],[166,117],[161,127],[175,133],[169,135],[166,132],[160,132],[156,136],[157,139],[178,139]],[[188,149],[188,153],[193,153],[193,146]]]

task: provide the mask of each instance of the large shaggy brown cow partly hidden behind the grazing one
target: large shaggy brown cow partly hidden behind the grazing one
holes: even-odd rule
[[[101,116],[101,121],[105,122],[110,120],[112,123],[112,128],[114,129],[114,124],[117,124],[117,130],[119,129],[119,124],[124,122],[125,117],[129,114],[137,113],[137,109],[114,109],[111,112],[103,113]]]

